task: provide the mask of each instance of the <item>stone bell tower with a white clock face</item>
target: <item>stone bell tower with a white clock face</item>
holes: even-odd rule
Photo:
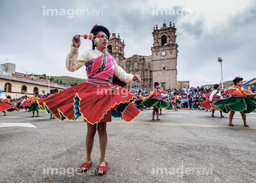
[[[152,72],[153,82],[159,82],[160,87],[166,84],[166,88],[174,87],[177,89],[177,56],[178,45],[176,44],[176,28],[166,26],[158,29],[157,25],[153,31],[154,44],[152,52]],[[153,86],[152,86],[153,87]]]

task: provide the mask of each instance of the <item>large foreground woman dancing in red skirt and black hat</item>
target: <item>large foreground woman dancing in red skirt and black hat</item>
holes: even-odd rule
[[[60,121],[65,118],[75,121],[82,116],[87,122],[87,156],[80,167],[83,171],[88,170],[92,165],[92,146],[95,133],[99,133],[100,161],[97,173],[105,174],[107,171],[107,162],[105,161],[106,122],[111,121],[111,116],[129,122],[139,115],[139,109],[132,103],[137,97],[123,87],[113,84],[112,79],[116,76],[122,82],[127,83],[141,81],[141,79],[137,74],[127,74],[117,65],[110,53],[105,51],[110,38],[110,31],[107,28],[95,25],[90,33],[93,34],[92,50],[86,50],[78,55],[80,35],[75,35],[66,59],[66,67],[70,72],[86,66],[86,82],[65,89],[54,96],[41,99],[38,104],[45,111],[53,113]]]

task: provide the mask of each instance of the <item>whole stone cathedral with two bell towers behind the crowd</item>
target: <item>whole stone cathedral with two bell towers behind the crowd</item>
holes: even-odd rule
[[[159,82],[160,87],[166,84],[166,89],[189,87],[189,81],[177,81],[178,45],[175,25],[171,26],[170,22],[170,25],[166,26],[164,23],[160,29],[156,25],[152,34],[152,55],[132,55],[128,58],[124,57],[125,44],[124,40],[121,41],[119,33],[118,36],[112,33],[110,37],[107,52],[110,52],[117,64],[127,73],[138,74],[142,78],[142,82],[129,84],[129,89],[151,89],[154,82]]]

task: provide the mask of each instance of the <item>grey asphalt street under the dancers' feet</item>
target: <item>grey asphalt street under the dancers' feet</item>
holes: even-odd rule
[[[98,135],[92,167],[85,161],[87,124],[50,120],[40,111],[0,113],[0,182],[255,182],[256,112],[240,113],[228,126],[228,114],[210,111],[163,110],[161,121],[142,111],[131,123],[107,123],[108,170],[95,172],[100,158]]]

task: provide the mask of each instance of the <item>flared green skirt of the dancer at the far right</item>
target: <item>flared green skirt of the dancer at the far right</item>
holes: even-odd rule
[[[229,113],[230,111],[241,113],[252,113],[256,109],[256,99],[252,96],[244,97],[229,97],[220,101],[213,102],[213,105],[223,111]]]

